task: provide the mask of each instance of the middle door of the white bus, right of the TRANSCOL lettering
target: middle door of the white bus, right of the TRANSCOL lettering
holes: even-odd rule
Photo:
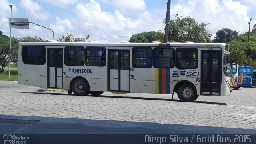
[[[108,50],[108,89],[130,91],[130,50]]]

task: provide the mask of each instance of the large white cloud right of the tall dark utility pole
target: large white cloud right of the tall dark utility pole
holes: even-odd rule
[[[215,34],[222,28],[230,28],[238,32],[248,29],[248,7],[236,0],[180,0],[172,6],[173,14],[191,16],[198,23],[210,23],[207,29]]]

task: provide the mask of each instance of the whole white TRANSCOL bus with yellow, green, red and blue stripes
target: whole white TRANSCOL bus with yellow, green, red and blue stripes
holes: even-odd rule
[[[229,45],[221,43],[20,42],[19,84],[86,96],[118,93],[229,96]]]

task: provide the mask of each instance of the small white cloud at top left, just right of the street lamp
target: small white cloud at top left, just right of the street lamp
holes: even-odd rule
[[[32,0],[21,0],[20,7],[24,8],[32,19],[47,20],[49,18],[46,10],[43,10],[38,3],[33,2]]]

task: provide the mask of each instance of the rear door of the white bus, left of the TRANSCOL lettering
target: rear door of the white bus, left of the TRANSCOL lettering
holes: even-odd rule
[[[62,88],[62,49],[47,49],[47,86],[48,88]]]

